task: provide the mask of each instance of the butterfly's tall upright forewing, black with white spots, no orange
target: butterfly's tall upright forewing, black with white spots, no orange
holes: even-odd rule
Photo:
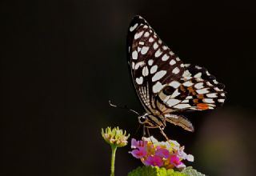
[[[127,46],[138,97],[147,112],[160,112],[154,104],[156,96],[168,83],[182,77],[184,65],[140,16],[130,23]]]

